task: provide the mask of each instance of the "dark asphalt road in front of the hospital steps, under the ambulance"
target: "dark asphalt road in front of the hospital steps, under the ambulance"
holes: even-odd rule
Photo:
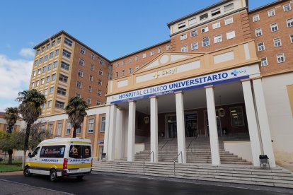
[[[5,181],[3,180],[5,179]],[[11,182],[6,182],[11,181]],[[25,185],[21,185],[22,183]],[[10,186],[11,185],[11,186]],[[20,185],[20,186],[19,186]],[[26,194],[285,194],[275,191],[255,189],[241,189],[234,187],[221,187],[208,184],[194,184],[188,182],[173,182],[160,179],[124,177],[121,175],[88,175],[83,181],[75,178],[62,178],[57,182],[50,182],[43,175],[24,177],[23,175],[0,175],[0,194],[18,194],[23,187]],[[3,187],[3,188],[2,188]],[[38,187],[38,188],[35,188]],[[2,189],[2,191],[1,191]],[[4,190],[8,191],[4,191]],[[54,191],[50,191],[50,190]],[[31,190],[31,191],[30,191]],[[40,191],[38,191],[40,190]],[[43,191],[42,191],[43,190]],[[30,191],[30,193],[29,193]]]

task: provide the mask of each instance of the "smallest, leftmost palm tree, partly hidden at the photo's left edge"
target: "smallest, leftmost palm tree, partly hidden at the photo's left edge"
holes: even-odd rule
[[[8,125],[8,134],[12,133],[12,129],[14,124],[16,124],[16,121],[18,119],[18,108],[17,107],[7,107],[5,110],[5,114],[4,114],[4,119],[7,122]],[[8,164],[12,164],[12,154],[13,154],[13,150],[9,149],[8,150]]]

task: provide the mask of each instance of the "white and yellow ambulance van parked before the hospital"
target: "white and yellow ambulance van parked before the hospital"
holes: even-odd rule
[[[33,153],[28,153],[23,175],[75,176],[82,179],[91,173],[91,140],[84,138],[52,138],[42,141]]]

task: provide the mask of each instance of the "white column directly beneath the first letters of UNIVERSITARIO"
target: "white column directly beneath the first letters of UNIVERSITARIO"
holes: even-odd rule
[[[178,154],[180,152],[182,153],[182,158],[180,155],[178,157],[178,163],[186,163],[183,92],[182,91],[176,92],[175,97],[176,97],[176,123],[177,123]]]

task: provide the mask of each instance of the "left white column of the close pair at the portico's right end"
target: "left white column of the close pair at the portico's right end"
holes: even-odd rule
[[[255,108],[253,103],[253,95],[251,90],[251,81],[246,79],[242,81],[244,102],[246,108],[246,117],[248,122],[249,137],[251,139],[251,153],[253,156],[253,165],[260,166],[259,155],[260,150],[260,138],[258,134],[258,123],[255,117]]]

